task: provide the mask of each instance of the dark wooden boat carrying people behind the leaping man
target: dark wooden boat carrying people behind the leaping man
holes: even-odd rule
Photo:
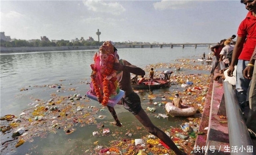
[[[155,78],[151,84],[150,79],[145,80],[144,84],[132,83],[132,88],[134,89],[159,89],[170,87],[170,80],[164,81],[160,78]]]

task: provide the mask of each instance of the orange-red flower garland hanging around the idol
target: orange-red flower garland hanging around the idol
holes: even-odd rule
[[[97,55],[97,53],[94,55],[94,66],[95,63],[99,63],[99,56]],[[96,81],[96,77],[97,76],[97,71],[93,71],[92,75],[91,75],[91,79],[92,79],[92,84],[94,87],[94,91],[96,93],[96,96],[98,98],[98,101],[103,105],[106,106],[108,104],[110,95],[113,93],[109,90],[109,84],[110,84],[110,80],[107,80],[106,77],[108,75],[111,75],[111,73],[113,72],[113,64],[114,64],[114,59],[109,60],[108,64],[106,65],[106,67],[104,67],[104,71],[102,75],[99,75],[99,77],[103,77],[103,89],[102,92],[103,94],[100,92],[100,84],[98,82],[100,82],[99,80]]]

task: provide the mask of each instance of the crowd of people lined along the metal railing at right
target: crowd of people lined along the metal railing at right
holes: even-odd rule
[[[238,27],[236,41],[233,40],[236,35],[232,35],[211,47],[214,59],[210,73],[214,75],[218,63],[223,61],[226,69],[215,73],[214,80],[222,77],[234,85],[249,134],[256,138],[256,0],[240,2],[248,13]]]

